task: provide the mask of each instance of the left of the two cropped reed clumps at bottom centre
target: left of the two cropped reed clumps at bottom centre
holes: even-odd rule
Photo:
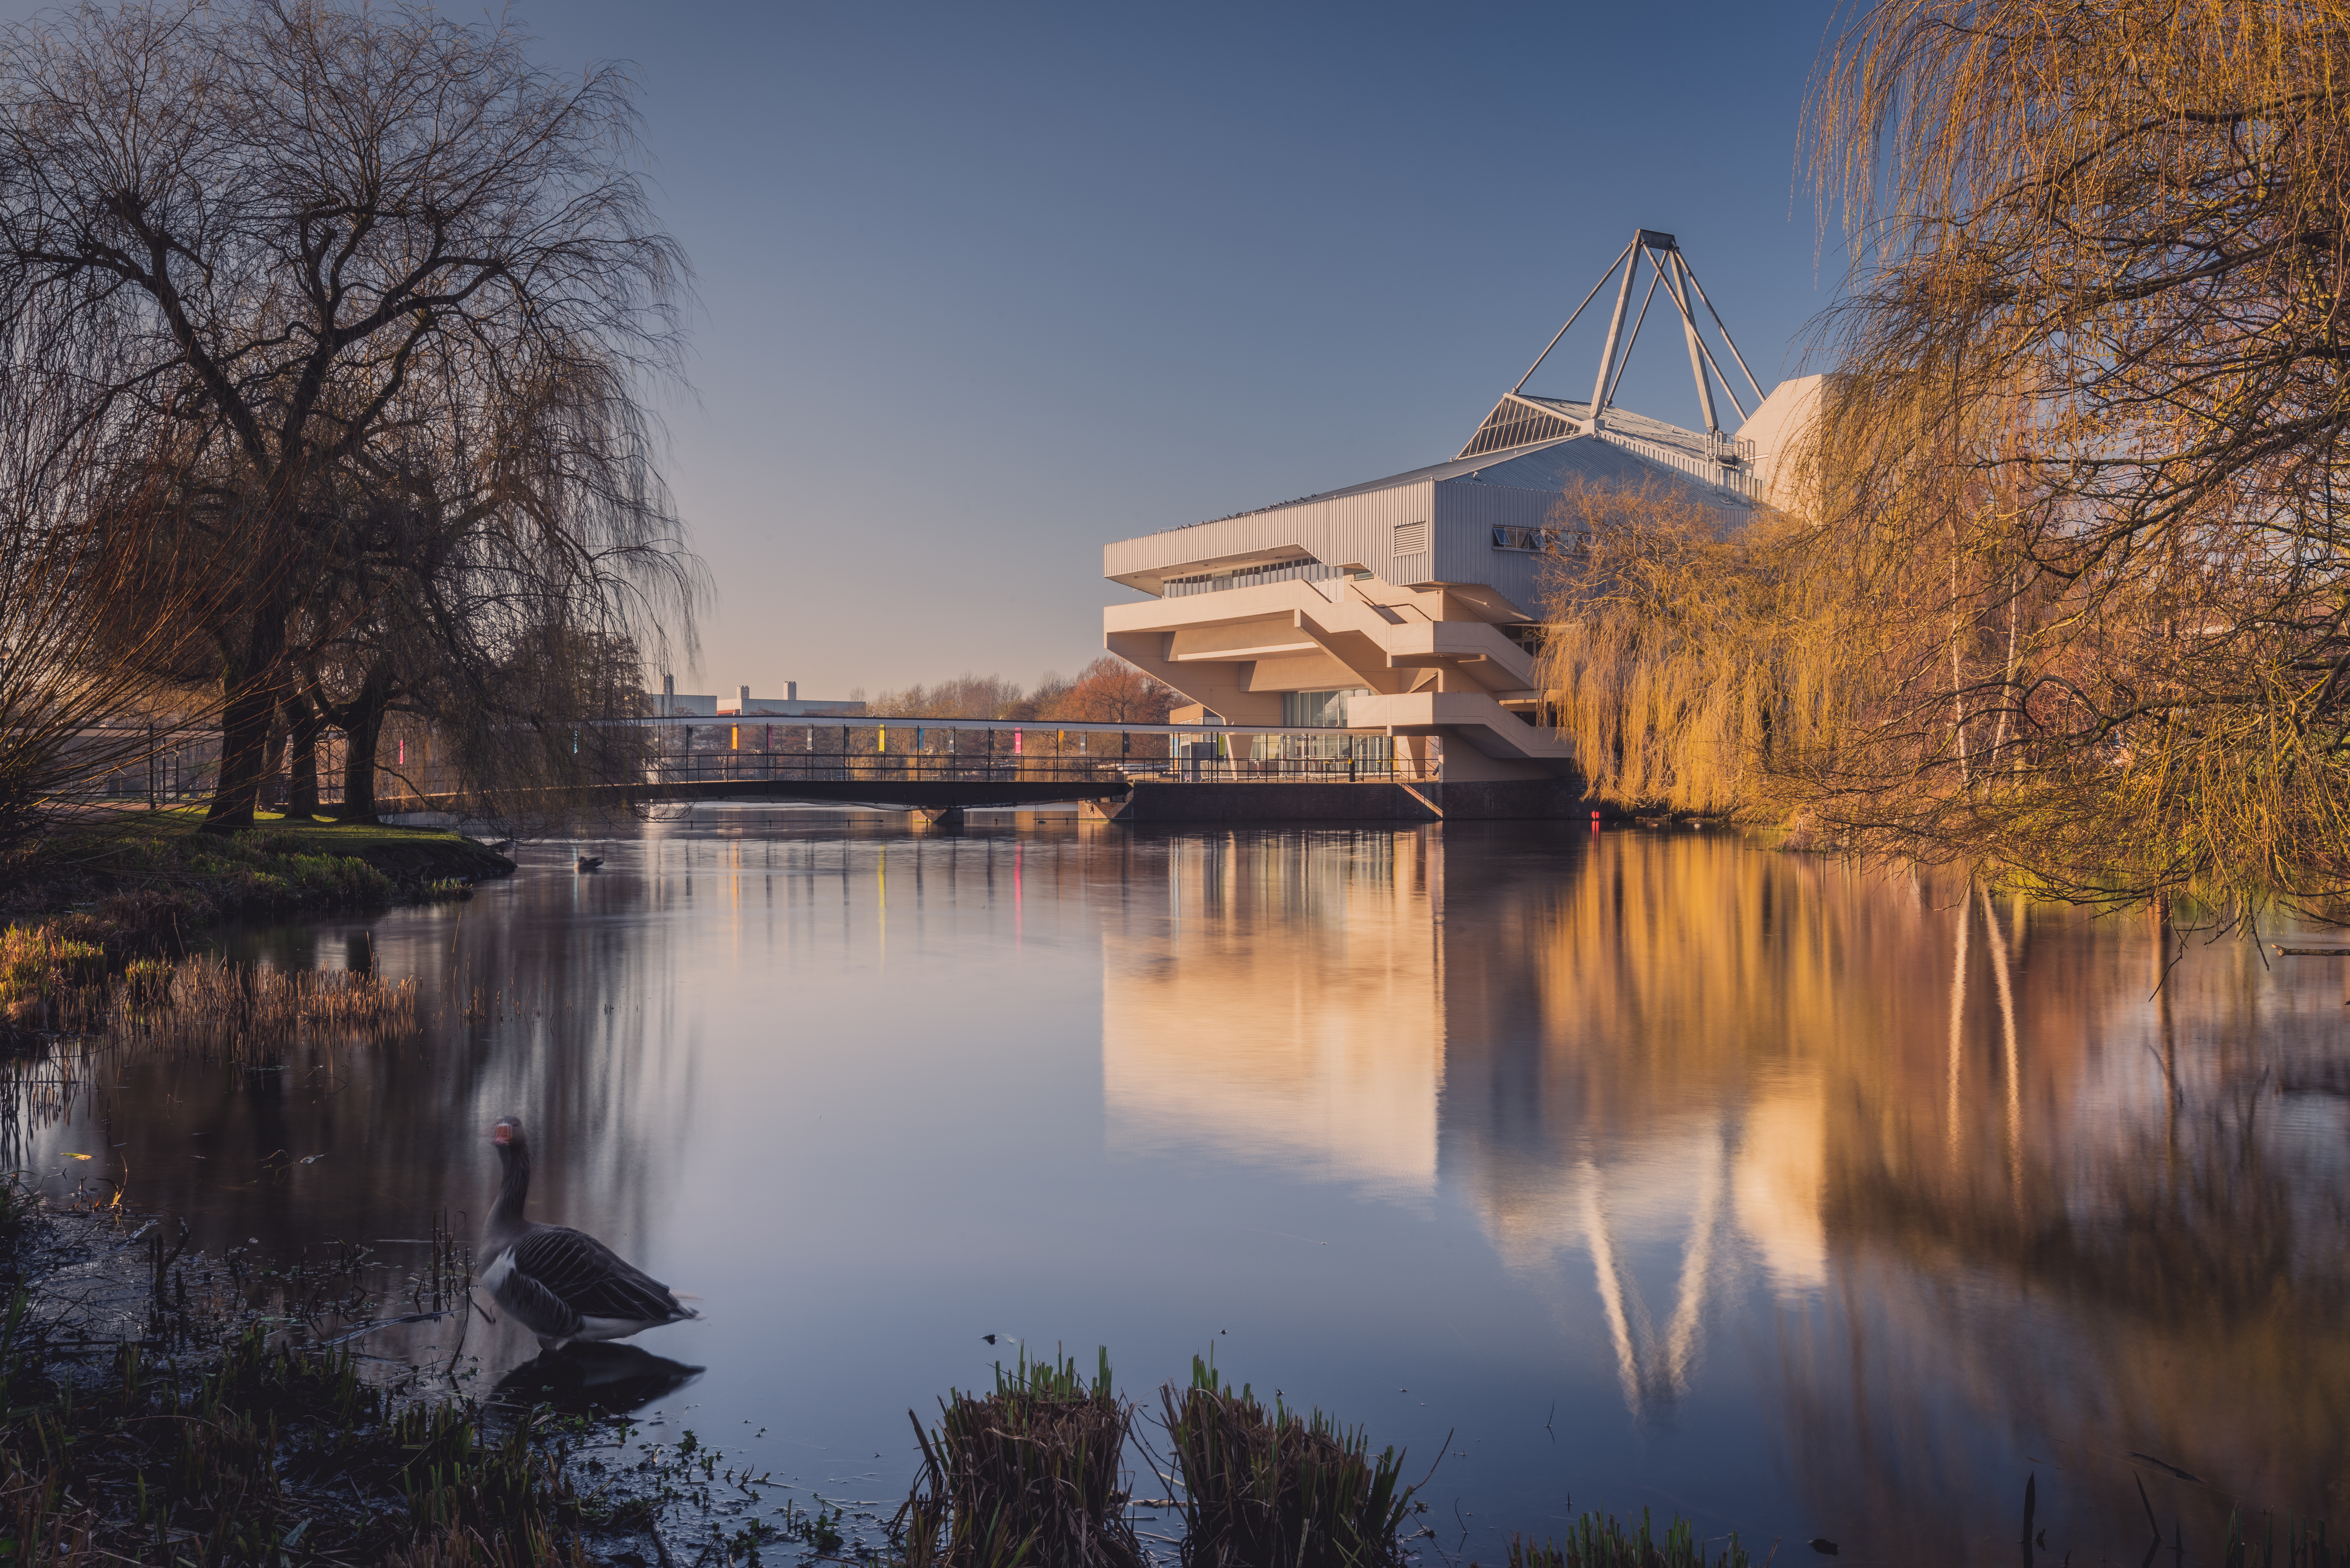
[[[1130,1425],[1107,1349],[1090,1385],[1074,1359],[1020,1352],[994,1394],[949,1392],[935,1432],[914,1418],[921,1476],[891,1521],[902,1568],[1142,1568],[1119,1488]]]

